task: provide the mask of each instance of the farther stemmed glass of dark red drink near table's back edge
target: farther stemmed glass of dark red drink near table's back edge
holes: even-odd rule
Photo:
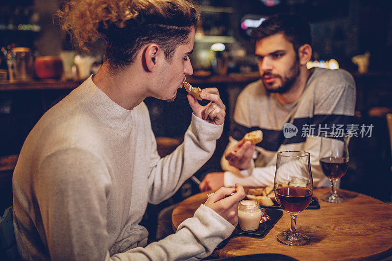
[[[331,181],[331,191],[321,200],[342,203],[346,199],[338,195],[334,182],[343,177],[348,167],[347,136],[344,133],[322,133],[320,145],[320,166],[324,175]]]

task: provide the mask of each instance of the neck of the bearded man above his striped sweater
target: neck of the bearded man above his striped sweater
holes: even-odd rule
[[[299,99],[306,87],[306,82],[309,76],[313,73],[314,69],[307,69],[306,67],[301,67],[297,79],[293,83],[293,87],[284,94],[275,94],[276,99],[281,104],[292,104]]]

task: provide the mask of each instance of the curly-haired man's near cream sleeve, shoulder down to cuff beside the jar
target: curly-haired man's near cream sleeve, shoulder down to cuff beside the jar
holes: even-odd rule
[[[110,177],[102,161],[81,149],[49,155],[34,180],[52,260],[195,260],[212,253],[234,227],[201,205],[177,233],[147,247],[109,254],[107,197]]]

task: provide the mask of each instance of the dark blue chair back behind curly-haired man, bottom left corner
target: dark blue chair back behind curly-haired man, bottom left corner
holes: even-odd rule
[[[0,217],[0,243],[1,251],[9,260],[19,259],[12,222],[12,206],[6,209],[3,216]]]

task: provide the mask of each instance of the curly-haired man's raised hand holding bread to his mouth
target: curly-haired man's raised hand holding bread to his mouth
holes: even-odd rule
[[[201,106],[197,99],[190,94],[187,97],[193,113],[198,118],[216,125],[223,124],[226,106],[224,106],[217,88],[205,88],[201,91],[200,97],[211,101],[206,106]]]

